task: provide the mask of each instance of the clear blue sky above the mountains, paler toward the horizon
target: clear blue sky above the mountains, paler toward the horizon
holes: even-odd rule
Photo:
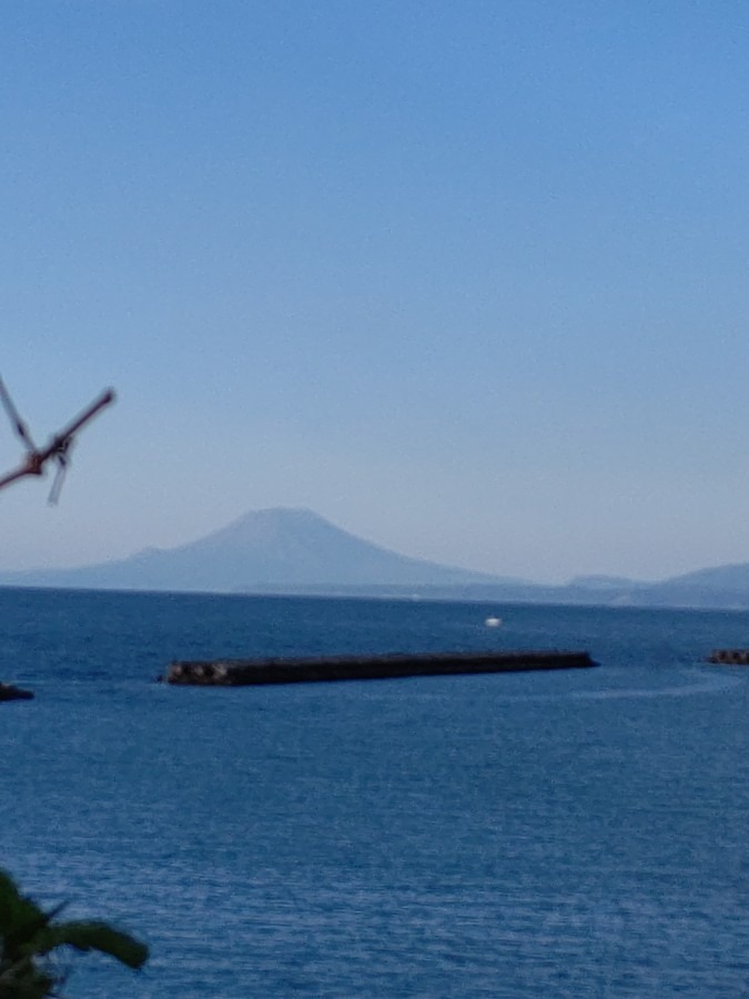
[[[307,506],[539,581],[749,561],[743,2],[0,12],[2,568]],[[0,432],[0,462],[19,448]]]

